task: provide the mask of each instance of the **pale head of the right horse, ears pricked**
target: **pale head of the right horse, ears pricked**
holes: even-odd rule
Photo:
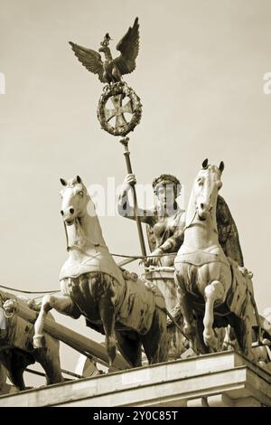
[[[196,209],[200,220],[206,220],[213,207],[216,206],[217,197],[222,186],[220,180],[224,163],[220,166],[209,165],[208,159],[202,163],[200,173],[197,175],[194,183]]]

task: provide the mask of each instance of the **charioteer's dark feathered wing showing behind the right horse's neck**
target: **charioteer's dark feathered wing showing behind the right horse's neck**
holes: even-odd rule
[[[244,266],[243,254],[239,243],[238,229],[229,211],[229,206],[219,195],[217,202],[217,223],[219,240],[225,255]]]

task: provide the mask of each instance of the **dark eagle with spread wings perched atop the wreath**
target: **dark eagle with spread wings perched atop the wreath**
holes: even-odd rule
[[[71,48],[78,60],[87,70],[98,74],[98,79],[104,83],[115,83],[122,79],[122,75],[135,70],[135,59],[139,51],[139,24],[135,18],[133,27],[129,27],[125,36],[117,43],[117,51],[120,55],[113,59],[108,44],[111,38],[107,33],[104,41],[100,43],[98,52],[103,52],[105,61],[101,55],[94,50],[79,46],[75,42],[70,42]]]

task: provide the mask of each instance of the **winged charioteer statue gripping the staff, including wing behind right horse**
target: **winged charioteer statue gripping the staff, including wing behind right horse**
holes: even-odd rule
[[[136,183],[135,175],[126,175],[121,194],[118,199],[118,213],[135,220],[134,206],[129,203],[128,192]],[[182,246],[185,230],[185,212],[176,202],[181,194],[180,181],[173,175],[160,175],[154,179],[153,209],[137,208],[140,220],[145,222],[151,255],[145,265],[155,266],[145,274],[147,279],[155,282],[164,295],[166,307],[172,312],[175,320],[182,327],[182,315],[178,308],[177,292],[173,278],[173,266],[177,251]],[[216,208],[219,240],[225,255],[243,266],[243,256],[238,241],[238,230],[229,212],[229,206],[219,195]],[[168,254],[168,255],[166,255]],[[164,267],[166,266],[166,267]],[[169,321],[168,326],[170,350],[169,358],[178,358],[186,344],[182,334]]]

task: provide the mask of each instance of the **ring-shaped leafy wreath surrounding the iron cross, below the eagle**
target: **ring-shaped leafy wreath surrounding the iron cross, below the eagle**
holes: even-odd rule
[[[113,127],[106,120],[105,109],[107,100],[117,95],[123,95],[131,100],[132,105],[132,118],[123,127]],[[126,85],[126,82],[119,81],[113,85],[105,86],[104,92],[102,93],[98,101],[97,116],[101,127],[113,136],[126,136],[130,131],[134,131],[134,128],[139,124],[142,116],[142,105],[140,98],[137,96],[135,91]]]

